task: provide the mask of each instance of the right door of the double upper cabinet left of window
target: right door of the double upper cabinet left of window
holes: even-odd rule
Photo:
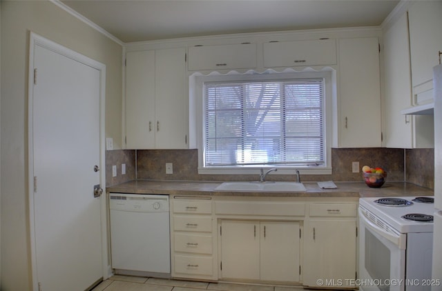
[[[185,149],[186,51],[155,50],[155,148]]]

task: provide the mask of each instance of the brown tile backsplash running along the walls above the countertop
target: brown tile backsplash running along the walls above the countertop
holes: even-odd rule
[[[135,163],[136,160],[136,163]],[[332,174],[302,174],[302,181],[363,181],[361,172],[352,172],[352,162],[381,167],[387,171],[387,181],[410,181],[434,188],[433,149],[334,148]],[[121,164],[126,163],[126,175]],[[166,174],[166,163],[173,163],[173,174]],[[117,165],[117,177],[112,177],[112,165]],[[136,170],[135,170],[136,169]],[[198,150],[113,150],[106,152],[107,186],[133,179],[186,181],[253,181],[256,175],[198,174]],[[271,175],[269,181],[294,181],[294,175]]]

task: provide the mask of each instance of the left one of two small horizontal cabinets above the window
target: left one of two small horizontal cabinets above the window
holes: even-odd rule
[[[188,66],[191,71],[256,68],[256,44],[193,46]]]

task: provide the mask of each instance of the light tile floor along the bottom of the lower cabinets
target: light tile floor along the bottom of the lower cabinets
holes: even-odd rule
[[[115,275],[100,283],[93,291],[302,291],[302,287],[206,283]]]

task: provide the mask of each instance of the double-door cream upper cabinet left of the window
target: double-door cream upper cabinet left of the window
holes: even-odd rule
[[[126,148],[187,148],[184,48],[126,54]]]

